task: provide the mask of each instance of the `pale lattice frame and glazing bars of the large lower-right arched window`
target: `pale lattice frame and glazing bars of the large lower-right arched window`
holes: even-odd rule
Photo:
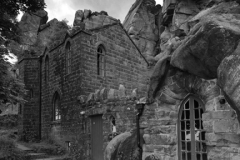
[[[194,106],[194,100],[198,102],[198,105],[199,107],[195,108]],[[190,121],[190,141],[187,141],[186,140],[186,133],[184,135],[185,137],[185,140],[182,140],[182,132],[185,131],[187,132],[188,130],[186,129],[186,126],[187,126],[187,121],[188,119],[186,118],[186,112],[185,112],[185,116],[184,118],[182,119],[182,113],[183,111],[185,110],[188,110],[188,109],[185,109],[184,110],[184,107],[185,107],[185,104],[187,104],[187,102],[189,102],[189,121]],[[196,115],[195,115],[195,110],[198,109],[198,113],[200,110],[202,110],[202,113],[200,111],[199,113],[199,117],[196,118]],[[185,157],[185,159],[182,159],[182,153],[184,152],[184,149],[182,147],[182,143],[185,144],[185,156],[187,156],[187,152],[190,151],[190,154],[191,154],[191,159],[192,160],[197,160],[197,152],[201,154],[201,157],[203,159],[203,154],[205,154],[207,156],[207,152],[205,151],[203,153],[203,146],[199,147],[201,148],[201,150],[199,151],[196,151],[196,145],[203,145],[205,143],[206,145],[206,140],[203,138],[203,135],[206,133],[205,130],[203,129],[203,127],[201,127],[202,125],[202,114],[205,112],[205,107],[204,107],[204,104],[202,102],[202,100],[200,98],[198,98],[197,96],[193,95],[193,94],[189,94],[181,103],[180,105],[180,108],[179,108],[179,112],[178,112],[178,124],[177,124],[177,137],[178,137],[178,159],[179,160],[185,160],[187,159],[188,157]],[[186,119],[185,119],[186,118]],[[200,127],[199,128],[196,128],[196,124],[195,124],[195,121],[198,120],[200,121],[199,125]],[[181,122],[184,121],[184,130],[181,129]],[[195,140],[195,137],[196,137],[196,131],[199,133],[199,139],[200,140]],[[204,133],[205,132],[205,133]],[[188,142],[190,142],[190,150],[188,150]],[[188,143],[188,144],[187,144]],[[187,144],[187,145],[186,145]],[[195,146],[195,147],[192,147],[192,146]],[[183,151],[182,151],[183,150]],[[198,154],[199,155],[199,154]],[[205,159],[204,159],[205,160]]]

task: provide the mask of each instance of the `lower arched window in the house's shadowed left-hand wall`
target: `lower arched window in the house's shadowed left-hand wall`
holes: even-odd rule
[[[53,121],[58,120],[61,120],[60,96],[58,93],[55,93],[53,96]]]

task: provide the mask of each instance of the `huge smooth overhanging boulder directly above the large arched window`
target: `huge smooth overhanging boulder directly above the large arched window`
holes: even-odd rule
[[[205,79],[217,78],[221,61],[231,55],[240,40],[240,6],[221,3],[197,14],[192,29],[173,52],[171,65]]]

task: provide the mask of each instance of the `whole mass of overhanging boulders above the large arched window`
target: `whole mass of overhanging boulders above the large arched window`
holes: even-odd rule
[[[240,6],[236,2],[222,2],[202,10],[188,20],[190,30],[186,36],[178,37],[168,30],[162,33],[162,51],[157,56],[158,62],[150,80],[150,102],[161,90],[167,70],[173,67],[206,80],[217,78],[221,89],[236,106],[240,106],[237,96],[239,80],[236,78],[240,40],[239,11]],[[177,24],[175,20],[173,23]]]

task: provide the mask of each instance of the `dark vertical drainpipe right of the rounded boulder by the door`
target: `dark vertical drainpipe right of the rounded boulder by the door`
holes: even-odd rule
[[[137,103],[136,104],[136,109],[137,109],[137,114],[136,114],[136,125],[137,125],[137,146],[139,149],[139,160],[142,159],[142,146],[141,146],[141,137],[140,137],[140,124],[139,120],[140,117],[142,116],[143,110],[144,110],[145,103]]]

